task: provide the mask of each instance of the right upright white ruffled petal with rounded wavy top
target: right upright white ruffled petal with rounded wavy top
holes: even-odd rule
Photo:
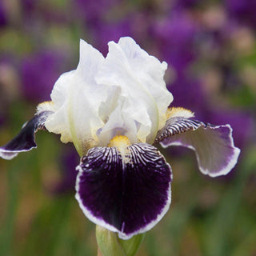
[[[118,44],[109,42],[109,54],[96,81],[120,90],[116,106],[122,118],[119,134],[127,136],[133,143],[152,143],[166,122],[166,109],[173,100],[163,80],[166,68],[166,62],[161,63],[147,54],[132,38],[121,38]],[[115,115],[110,116],[107,130],[117,130],[117,125]],[[105,127],[102,129],[104,133]],[[135,134],[135,141],[131,134]]]

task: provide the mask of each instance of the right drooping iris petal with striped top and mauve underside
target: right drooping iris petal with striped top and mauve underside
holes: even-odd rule
[[[185,146],[195,151],[202,174],[216,177],[230,172],[238,161],[240,150],[234,146],[230,125],[213,126],[188,119],[183,115],[170,116],[158,132],[155,142],[163,147]]]

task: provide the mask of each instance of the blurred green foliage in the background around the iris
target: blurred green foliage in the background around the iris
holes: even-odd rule
[[[6,1],[10,24],[0,30],[0,54],[12,54],[21,61],[43,46],[62,48],[71,56],[66,63],[71,70],[78,59],[78,39],[90,35],[70,13],[70,1],[40,2],[41,10],[58,10],[68,22],[47,23],[43,12],[38,12],[34,18],[37,30],[33,30],[22,23],[20,2]],[[133,8],[144,4],[134,1]],[[255,53],[254,42],[247,54],[238,53],[234,58],[238,72],[247,78],[228,98],[234,107],[255,110]],[[12,72],[13,78],[18,75]],[[10,107],[8,122],[0,126],[1,145],[34,114],[34,102],[22,98],[19,82],[14,85],[14,90],[4,90]],[[58,136],[44,132],[38,133],[37,143],[37,150],[19,154],[11,162],[0,159],[0,255],[96,255],[94,224],[83,216],[74,191],[54,194],[50,190],[62,178],[56,161],[62,143]],[[166,151],[166,156],[174,171],[172,204],[162,221],[147,232],[138,255],[256,255],[256,146],[251,143],[245,148],[229,178],[203,177],[188,150],[178,156]]]

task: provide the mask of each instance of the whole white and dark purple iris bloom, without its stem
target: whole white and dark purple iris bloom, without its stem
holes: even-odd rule
[[[194,150],[199,170],[211,177],[228,174],[240,150],[229,125],[201,122],[190,110],[170,106],[166,62],[129,37],[108,45],[104,58],[81,40],[77,69],[58,78],[51,101],[38,105],[0,156],[11,159],[36,147],[38,130],[61,134],[81,156],[75,198],[83,213],[129,239],[150,230],[170,207],[172,170],[158,143]]]

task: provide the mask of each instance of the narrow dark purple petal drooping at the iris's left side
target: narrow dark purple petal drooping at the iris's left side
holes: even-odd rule
[[[52,114],[51,111],[42,111],[35,114],[29,122],[22,126],[22,130],[6,145],[0,147],[0,157],[10,160],[18,155],[19,152],[29,151],[37,147],[34,142],[34,134],[38,130],[46,130],[44,123],[46,118]]]

